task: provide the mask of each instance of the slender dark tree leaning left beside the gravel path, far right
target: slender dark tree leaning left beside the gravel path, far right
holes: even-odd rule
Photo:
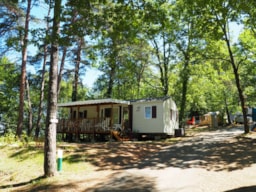
[[[202,30],[211,38],[216,40],[222,39],[225,42],[229,61],[235,78],[237,92],[240,100],[240,106],[244,117],[244,132],[249,132],[249,126],[247,122],[247,109],[245,105],[245,96],[240,82],[239,68],[245,61],[245,58],[236,59],[235,51],[232,44],[230,23],[231,21],[238,21],[239,15],[233,10],[232,2],[230,0],[218,0],[218,1],[206,1],[197,0],[187,3],[191,3],[194,6],[199,18],[199,24],[201,24]],[[199,27],[199,26],[198,26]]]

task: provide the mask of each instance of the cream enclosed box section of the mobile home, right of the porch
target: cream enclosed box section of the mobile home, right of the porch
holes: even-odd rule
[[[170,97],[135,100],[131,105],[134,132],[174,135],[179,128],[178,109]]]

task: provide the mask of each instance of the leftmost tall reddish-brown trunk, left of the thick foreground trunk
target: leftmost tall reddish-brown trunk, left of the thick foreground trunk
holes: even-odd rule
[[[24,119],[24,93],[26,84],[26,64],[27,64],[27,44],[28,44],[28,30],[30,21],[30,11],[31,11],[31,0],[27,1],[27,13],[25,20],[24,36],[22,41],[22,64],[21,64],[21,80],[20,80],[20,103],[19,103],[19,114],[18,114],[18,124],[16,135],[18,137],[22,134],[23,119]]]

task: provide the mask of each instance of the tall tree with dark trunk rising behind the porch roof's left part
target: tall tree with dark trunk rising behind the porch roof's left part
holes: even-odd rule
[[[95,1],[84,2],[78,1],[67,1],[65,10],[65,24],[64,34],[69,40],[69,46],[71,47],[71,59],[73,61],[70,74],[73,75],[73,91],[72,100],[76,101],[79,99],[79,85],[80,76],[83,74],[81,71],[84,66],[88,64],[88,49],[86,50],[85,39],[92,39],[91,35],[95,32],[95,28],[98,28],[98,16],[97,12],[102,3]],[[101,18],[103,19],[103,18]],[[84,51],[86,50],[86,52]],[[90,48],[93,52],[93,49]],[[86,54],[85,54],[86,53]],[[64,54],[63,54],[64,56]],[[82,65],[83,64],[83,65]],[[73,67],[74,66],[74,67]]]

